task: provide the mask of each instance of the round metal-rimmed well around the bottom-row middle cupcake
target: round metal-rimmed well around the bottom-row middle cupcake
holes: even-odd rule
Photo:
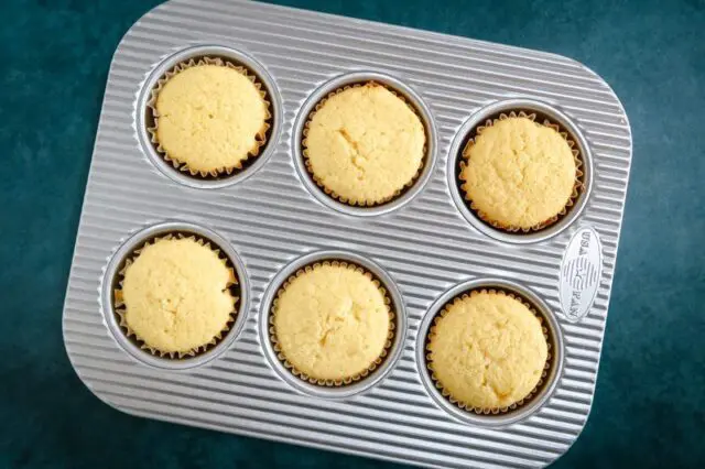
[[[321,265],[343,265],[364,272],[376,282],[388,305],[390,325],[383,351],[365,371],[341,380],[321,380],[297,370],[282,352],[273,323],[276,302],[283,290],[304,272]],[[391,372],[401,356],[405,330],[402,297],[392,279],[373,262],[347,251],[317,251],[294,260],[274,276],[262,298],[260,310],[260,339],[272,368],[293,388],[323,399],[348,397],[377,385]]]

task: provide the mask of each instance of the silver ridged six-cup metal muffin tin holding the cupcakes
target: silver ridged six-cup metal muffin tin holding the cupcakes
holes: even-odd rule
[[[147,131],[155,80],[203,55],[248,67],[271,98],[263,151],[229,176],[174,170]],[[311,179],[302,127],[327,92],[367,80],[419,111],[427,154],[400,197],[351,207]],[[468,132],[509,110],[549,117],[583,154],[583,194],[536,232],[484,223],[457,189]],[[422,466],[545,466],[589,413],[630,160],[619,100],[572,59],[254,2],[172,0],[130,29],[111,64],[64,306],[68,357],[98,397],[134,415]],[[229,334],[183,360],[151,356],[126,338],[111,296],[124,257],[174,231],[220,247],[242,298]],[[276,359],[267,317],[297,266],[333,258],[384,283],[397,324],[375,372],[327,389]],[[425,367],[433,316],[477,287],[531,302],[552,341],[553,364],[536,394],[497,415],[452,404]]]

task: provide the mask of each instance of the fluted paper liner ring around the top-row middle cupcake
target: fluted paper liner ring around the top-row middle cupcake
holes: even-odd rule
[[[362,81],[362,83],[354,83],[350,85],[345,85],[340,88],[337,88],[334,91],[328,92],[328,95],[321,99],[321,101],[318,101],[316,103],[316,106],[314,107],[314,110],[311,111],[306,118],[306,122],[304,122],[304,130],[303,130],[303,139],[301,141],[301,146],[302,146],[302,155],[304,159],[304,166],[306,167],[306,172],[311,175],[311,178],[316,183],[316,185],[318,187],[321,187],[323,189],[324,193],[326,193],[326,195],[333,197],[334,199],[349,205],[351,207],[378,207],[380,205],[384,205],[398,197],[400,197],[402,194],[404,194],[406,190],[409,190],[414,183],[419,179],[419,177],[421,176],[421,173],[423,172],[424,166],[427,164],[427,159],[429,155],[426,154],[429,152],[429,132],[426,131],[425,126],[424,127],[424,135],[425,135],[425,141],[424,141],[424,145],[423,145],[423,157],[421,159],[421,165],[419,166],[419,170],[416,171],[416,174],[413,175],[413,177],[411,178],[411,181],[409,181],[403,187],[401,187],[400,189],[395,190],[394,194],[392,194],[391,196],[384,197],[382,199],[379,200],[360,200],[360,199],[349,199],[347,197],[343,197],[340,195],[338,195],[335,190],[328,188],[325,186],[325,184],[323,183],[323,181],[321,181],[321,178],[318,176],[316,176],[313,172],[313,168],[311,167],[311,161],[308,160],[308,149],[306,148],[306,137],[308,135],[308,127],[311,126],[311,121],[313,119],[313,117],[316,114],[316,112],[325,105],[325,102],[330,99],[333,96],[335,95],[339,95],[340,92],[345,91],[346,89],[350,89],[350,88],[360,88],[360,87],[375,87],[375,86],[382,86],[384,88],[387,88],[390,92],[392,92],[395,97],[398,97],[399,99],[401,99],[402,101],[404,101],[404,103],[409,107],[409,109],[411,109],[413,111],[414,114],[416,114],[416,117],[419,118],[419,120],[421,121],[422,126],[424,122],[423,117],[421,116],[421,113],[419,112],[419,110],[412,106],[406,98],[404,98],[403,95],[401,95],[400,92],[398,92],[397,90],[394,90],[393,88],[384,85],[384,84],[379,84],[377,81],[373,80],[369,80],[369,81]]]

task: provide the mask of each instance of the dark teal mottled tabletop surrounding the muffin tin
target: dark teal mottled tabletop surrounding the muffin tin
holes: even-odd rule
[[[633,164],[592,416],[556,468],[705,467],[705,2],[279,0],[574,57]],[[154,0],[0,1],[0,467],[394,465],[140,419],[80,384],[61,316],[110,58]]]

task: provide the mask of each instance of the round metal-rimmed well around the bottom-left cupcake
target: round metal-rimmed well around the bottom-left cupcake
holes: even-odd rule
[[[142,249],[164,239],[194,239],[218,254],[231,272],[228,290],[234,297],[232,312],[223,330],[212,341],[186,352],[163,352],[147,345],[128,326],[122,298],[122,282],[127,268],[134,262]],[[205,364],[225,352],[237,338],[243,325],[249,305],[249,282],[245,265],[237,253],[219,234],[193,223],[164,222],[143,229],[124,241],[105,269],[101,284],[101,306],[108,329],[117,342],[139,361],[170,370],[185,370]]]

